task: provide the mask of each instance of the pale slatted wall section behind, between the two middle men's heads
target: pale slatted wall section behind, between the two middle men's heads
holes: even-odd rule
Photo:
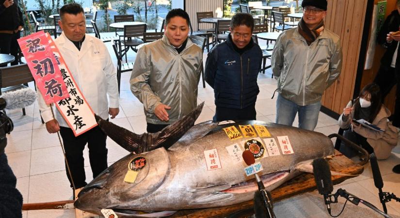
[[[192,22],[193,31],[197,31],[197,15],[196,12],[212,11],[214,17],[222,17],[224,0],[185,0],[185,11],[189,14]],[[200,24],[200,29],[213,28],[212,24]]]

